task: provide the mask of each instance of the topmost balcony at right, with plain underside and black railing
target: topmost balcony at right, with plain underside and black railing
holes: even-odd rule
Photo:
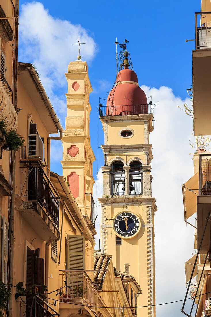
[[[192,51],[194,135],[210,135],[211,12],[195,13]]]

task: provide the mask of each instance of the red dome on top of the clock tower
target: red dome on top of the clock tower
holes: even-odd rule
[[[138,86],[137,74],[125,64],[125,68],[118,72],[115,86],[108,95],[106,115],[144,113],[148,113],[146,95]]]

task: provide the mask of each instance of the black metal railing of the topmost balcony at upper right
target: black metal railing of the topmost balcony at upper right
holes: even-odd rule
[[[195,49],[211,49],[211,12],[195,12]]]

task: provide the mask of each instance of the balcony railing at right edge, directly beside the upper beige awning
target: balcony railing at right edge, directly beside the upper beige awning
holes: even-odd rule
[[[199,156],[199,196],[211,195],[211,155]]]

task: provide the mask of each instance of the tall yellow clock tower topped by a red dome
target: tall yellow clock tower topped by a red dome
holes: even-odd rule
[[[121,44],[124,45],[124,44]],[[125,47],[124,47],[125,48]],[[154,214],[151,195],[153,159],[150,132],[153,131],[152,102],[147,102],[130,68],[128,51],[108,95],[99,105],[104,131],[101,242],[104,254],[111,254],[117,271],[130,265],[143,294],[137,297],[137,315],[155,316]],[[121,58],[120,58],[121,59]]]

